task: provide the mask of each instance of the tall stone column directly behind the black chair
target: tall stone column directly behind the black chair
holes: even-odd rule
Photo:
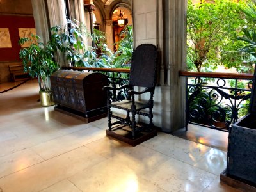
[[[161,55],[154,125],[176,131],[185,125],[185,81],[178,72],[186,59],[186,0],[132,0],[132,13],[134,47],[154,44]]]

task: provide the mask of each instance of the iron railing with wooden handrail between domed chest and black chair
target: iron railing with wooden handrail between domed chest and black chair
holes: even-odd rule
[[[100,72],[108,76],[109,85],[118,88],[128,84],[130,69],[127,68],[93,68],[93,67],[62,67],[67,70],[86,70]],[[127,97],[127,90],[113,90],[111,100],[124,100]]]

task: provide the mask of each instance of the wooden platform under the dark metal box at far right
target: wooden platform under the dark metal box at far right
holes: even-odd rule
[[[233,188],[239,189],[241,191],[246,192],[255,192],[256,186],[252,186],[242,180],[234,179],[233,177],[229,177],[224,170],[220,174],[220,182],[227,184],[228,186],[232,186]]]

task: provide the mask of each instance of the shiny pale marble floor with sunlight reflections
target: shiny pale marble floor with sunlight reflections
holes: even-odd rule
[[[106,137],[106,118],[84,124],[37,100],[36,81],[0,94],[1,192],[238,191],[220,183],[225,148],[163,132],[131,147]]]

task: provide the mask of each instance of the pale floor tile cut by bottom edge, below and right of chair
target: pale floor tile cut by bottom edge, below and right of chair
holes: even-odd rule
[[[173,158],[143,176],[144,179],[166,191],[188,192],[203,191],[216,177]]]

